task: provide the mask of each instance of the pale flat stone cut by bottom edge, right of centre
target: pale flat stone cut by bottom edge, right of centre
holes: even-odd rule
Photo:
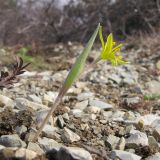
[[[141,160],[141,157],[136,154],[121,150],[113,150],[111,152],[111,159],[116,160],[116,158],[120,158],[121,160]]]

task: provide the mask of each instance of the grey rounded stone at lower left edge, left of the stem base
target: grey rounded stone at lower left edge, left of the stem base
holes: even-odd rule
[[[17,134],[1,136],[0,144],[5,147],[26,147],[26,143]]]

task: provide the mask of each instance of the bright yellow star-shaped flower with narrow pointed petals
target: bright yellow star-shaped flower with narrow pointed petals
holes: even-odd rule
[[[102,51],[100,54],[100,59],[111,61],[112,65],[117,66],[118,64],[128,64],[129,62],[123,61],[122,56],[118,56],[115,53],[120,52],[120,47],[122,44],[115,46],[115,42],[113,41],[112,33],[107,37],[107,42],[104,43],[103,35],[102,35],[102,27],[99,29],[99,38],[102,44]],[[114,47],[115,46],[115,47]]]

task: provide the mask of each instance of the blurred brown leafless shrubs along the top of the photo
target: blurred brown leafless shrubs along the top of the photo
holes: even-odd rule
[[[86,42],[100,22],[118,40],[158,33],[160,0],[0,0],[0,44]]]

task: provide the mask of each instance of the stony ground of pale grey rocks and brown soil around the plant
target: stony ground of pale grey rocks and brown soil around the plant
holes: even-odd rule
[[[81,50],[70,47],[75,56]],[[27,71],[1,90],[0,160],[159,160],[160,52],[127,46],[123,52],[130,64],[101,62],[81,77],[35,143],[75,56],[57,54],[48,61],[54,70]],[[93,50],[88,63],[97,55]]]

